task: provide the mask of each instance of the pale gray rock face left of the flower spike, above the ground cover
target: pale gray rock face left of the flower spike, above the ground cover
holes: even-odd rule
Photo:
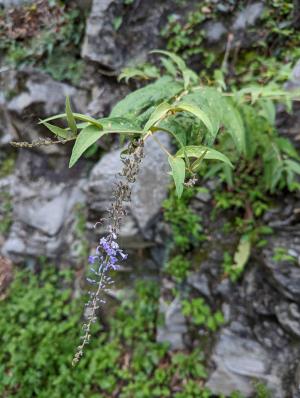
[[[48,174],[33,178],[39,159],[27,151],[21,153],[10,187],[13,224],[2,252],[15,262],[39,256],[70,259],[73,209],[84,202],[80,175],[76,180],[64,170],[55,175],[48,165]]]

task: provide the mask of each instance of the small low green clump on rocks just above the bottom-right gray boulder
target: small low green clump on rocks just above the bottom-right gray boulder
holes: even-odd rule
[[[204,326],[211,332],[215,332],[225,322],[222,312],[212,313],[203,298],[182,300],[182,313],[190,317],[196,326]]]

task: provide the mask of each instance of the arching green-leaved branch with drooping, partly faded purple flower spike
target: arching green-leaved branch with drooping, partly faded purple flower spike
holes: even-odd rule
[[[108,235],[100,240],[95,255],[89,259],[94,277],[88,278],[88,282],[95,285],[96,290],[90,293],[88,319],[73,364],[80,360],[89,342],[91,324],[103,301],[101,292],[112,283],[109,272],[117,269],[118,262],[126,258],[116,241],[126,214],[123,202],[130,200],[131,185],[143,158],[144,141],[149,136],[157,140],[156,133],[164,131],[176,141],[179,148],[176,153],[162,149],[168,157],[178,197],[184,187],[197,181],[196,175],[204,160],[212,162],[210,175],[221,171],[228,185],[232,186],[234,163],[241,158],[254,162],[260,159],[264,164],[265,187],[271,192],[277,187],[293,189],[295,175],[300,174],[297,152],[287,140],[277,136],[273,104],[273,100],[277,100],[290,107],[291,100],[299,97],[298,92],[286,92],[272,83],[234,92],[225,92],[226,85],[220,82],[216,82],[215,87],[205,87],[180,57],[167,51],[155,52],[162,57],[166,68],[164,75],[160,76],[157,70],[155,82],[127,95],[114,106],[109,117],[94,119],[74,113],[67,98],[65,113],[40,122],[57,137],[55,143],[75,140],[70,167],[104,135],[120,134],[130,142],[128,157],[123,160],[122,180],[116,186],[114,201],[108,210]],[[122,77],[126,78],[126,72]],[[250,117],[259,119],[261,125],[267,124],[262,134],[249,127]],[[56,119],[66,119],[67,127],[49,123]],[[225,143],[223,147],[220,145],[222,142]],[[48,145],[49,141],[44,144]],[[26,143],[14,145],[35,146]]]

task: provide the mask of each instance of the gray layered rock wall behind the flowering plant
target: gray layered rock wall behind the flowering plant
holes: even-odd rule
[[[59,267],[72,264],[81,275],[84,273],[86,256],[101,233],[94,224],[110,203],[121,168],[117,142],[104,142],[94,154],[68,169],[69,145],[17,150],[10,141],[47,136],[38,119],[63,111],[66,95],[80,113],[107,115],[129,91],[128,86],[117,82],[120,70],[145,62],[149,50],[164,48],[166,39],[161,31],[169,15],[183,18],[199,2],[188,2],[183,11],[178,1],[153,0],[151,6],[144,0],[73,3],[71,9],[79,9],[84,16],[76,14],[76,27],[81,29],[82,20],[85,26],[75,49],[74,43],[59,42],[54,64],[63,63],[64,52],[68,55],[71,49],[70,64],[74,70],[78,65],[82,68],[79,78],[77,72],[68,75],[67,70],[66,77],[58,79],[50,62],[33,62],[30,54],[19,67],[5,58],[0,61],[0,294],[11,279],[10,262],[34,267],[40,258],[47,258]],[[260,26],[266,4],[249,1],[234,7],[233,3],[219,4],[221,17],[202,26],[205,45],[216,54],[224,52],[228,33],[234,36],[233,47],[247,48],[257,40],[253,28]],[[45,1],[28,5],[28,1],[0,0],[0,7],[0,26],[9,40],[32,40],[41,26],[47,26],[48,17],[52,25],[56,23],[54,37],[68,24],[61,22],[59,9]],[[259,35],[259,28],[256,32]],[[47,51],[43,48],[41,57]],[[197,56],[192,58],[192,64],[198,67]],[[298,86],[299,76],[296,67],[289,84]],[[285,114],[278,118],[282,133],[296,144],[298,119],[297,110],[289,118]],[[161,139],[171,146],[167,137]],[[180,301],[168,299],[175,282],[162,273],[171,240],[162,216],[170,185],[167,169],[163,152],[154,141],[148,142],[121,233],[130,258],[119,276],[119,292],[130,289],[132,274],[135,278],[157,278],[164,317],[164,324],[157,328],[157,340],[168,341],[172,350],[178,350],[201,343],[193,338],[195,330],[191,332]],[[182,292],[188,290],[193,297],[203,297],[212,308],[221,308],[226,321],[212,339],[196,331],[207,353],[207,386],[216,394],[229,395],[238,390],[250,397],[252,381],[259,380],[272,397],[300,397],[300,196],[295,193],[274,198],[263,219],[274,233],[259,254],[252,254],[242,278],[232,283],[222,277],[220,269],[224,251],[236,238],[222,232],[230,214],[211,222],[215,186],[215,182],[206,183],[205,194],[190,203],[193,212],[202,217],[209,239],[188,254],[193,270],[181,286]],[[276,247],[285,248],[296,264],[275,261]],[[118,291],[112,295],[118,295]]]

